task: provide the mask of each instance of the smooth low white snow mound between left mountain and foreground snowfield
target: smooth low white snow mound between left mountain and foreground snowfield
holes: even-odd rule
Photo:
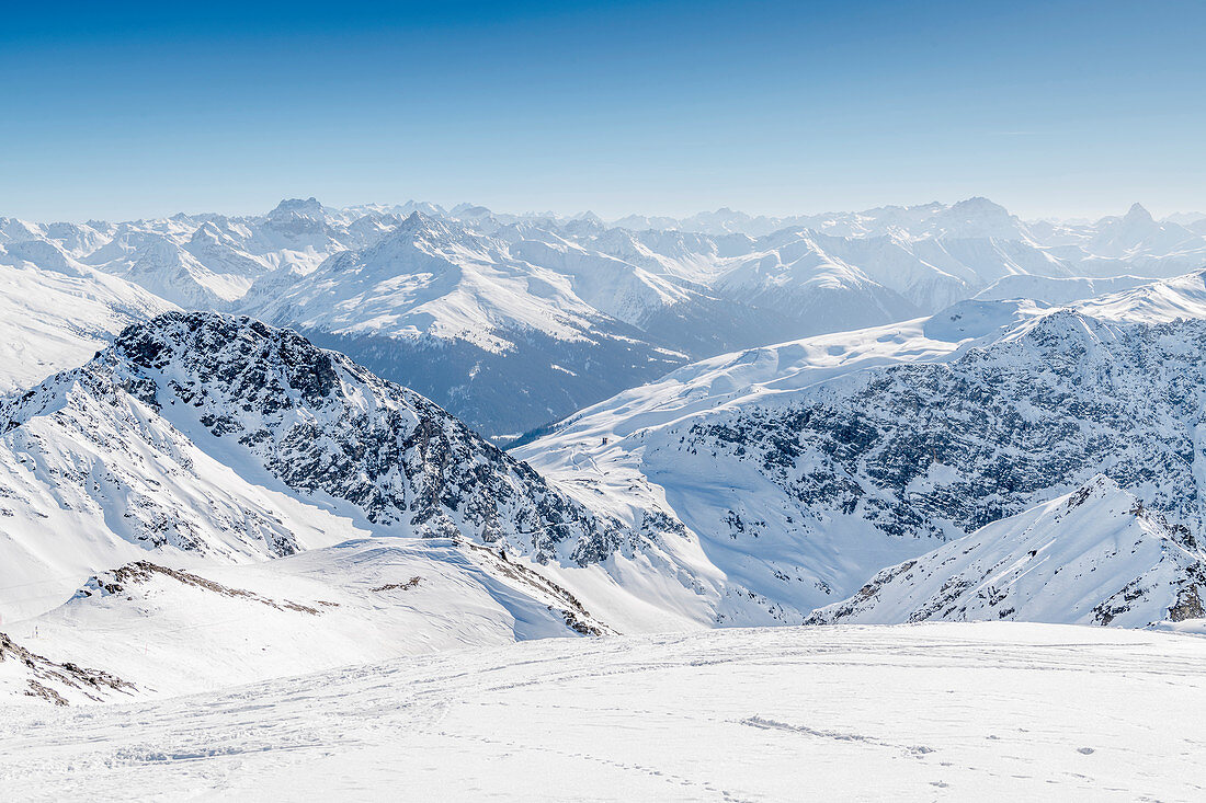
[[[537,570],[459,540],[358,539],[245,565],[163,558],[98,572],[5,632],[53,664],[104,667],[127,684],[112,691],[137,697],[604,632]],[[71,697],[63,681],[41,682]],[[30,690],[29,678],[0,681],[0,698]]]

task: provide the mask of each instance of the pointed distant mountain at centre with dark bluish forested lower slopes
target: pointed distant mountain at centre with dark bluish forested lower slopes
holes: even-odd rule
[[[572,259],[562,256],[563,265]],[[242,309],[431,395],[488,434],[562,417],[685,361],[582,300],[573,274],[522,257],[416,211],[375,245],[340,252],[283,287],[269,274]],[[607,293],[592,295],[614,309],[632,291],[615,291],[615,304],[601,299]]]

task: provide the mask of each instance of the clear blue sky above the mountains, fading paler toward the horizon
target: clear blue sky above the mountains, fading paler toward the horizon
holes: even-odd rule
[[[1206,209],[1206,2],[10,4],[0,215]]]

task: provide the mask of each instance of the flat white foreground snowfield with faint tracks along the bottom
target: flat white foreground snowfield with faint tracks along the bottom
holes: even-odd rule
[[[1195,801],[1206,639],[982,623],[550,639],[111,707],[0,708],[66,798]]]

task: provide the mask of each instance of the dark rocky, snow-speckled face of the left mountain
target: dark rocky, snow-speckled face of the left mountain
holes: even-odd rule
[[[174,415],[236,440],[294,491],[359,506],[374,524],[504,539],[541,561],[584,564],[619,543],[617,522],[562,497],[428,399],[292,329],[168,312],[128,327],[96,362],[156,410],[183,402]],[[428,453],[449,459],[439,479]]]

